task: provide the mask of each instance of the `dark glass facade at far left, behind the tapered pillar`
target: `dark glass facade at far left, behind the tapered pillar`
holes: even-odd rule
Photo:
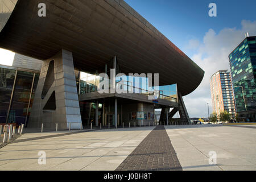
[[[0,123],[28,121],[39,73],[0,68]]]

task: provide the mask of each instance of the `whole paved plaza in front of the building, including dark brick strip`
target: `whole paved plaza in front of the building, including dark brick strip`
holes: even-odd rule
[[[181,125],[26,133],[0,170],[256,170],[256,125]],[[39,153],[46,164],[39,164]],[[210,151],[217,164],[209,164]]]

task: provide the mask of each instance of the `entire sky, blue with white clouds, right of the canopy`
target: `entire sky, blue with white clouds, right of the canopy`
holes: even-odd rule
[[[245,38],[256,35],[254,0],[125,0],[205,71],[201,85],[184,97],[190,117],[212,113],[209,79],[229,69],[229,53]],[[210,17],[210,3],[217,17]]]

